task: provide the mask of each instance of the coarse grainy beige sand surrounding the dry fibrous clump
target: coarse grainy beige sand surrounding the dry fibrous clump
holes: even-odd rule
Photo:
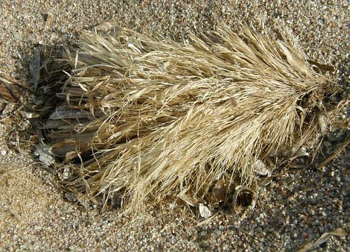
[[[249,2],[249,3],[248,3]],[[113,21],[181,39],[188,31],[215,30],[239,22],[287,27],[313,60],[337,69],[348,87],[347,1],[0,1],[0,73],[31,78],[35,50],[75,47],[83,29]],[[2,135],[8,132],[1,125]],[[5,127],[6,128],[6,127]],[[325,142],[325,155],[347,133]],[[20,140],[20,139],[19,139]],[[349,152],[323,170],[286,174],[264,188],[244,218],[220,214],[208,223],[181,214],[173,205],[149,204],[136,218],[63,200],[53,175],[28,155],[0,144],[0,250],[215,250],[295,251],[323,233],[343,228],[320,251],[350,247]]]

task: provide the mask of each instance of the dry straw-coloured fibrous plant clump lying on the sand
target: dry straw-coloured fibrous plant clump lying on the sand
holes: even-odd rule
[[[183,43],[92,31],[65,60],[65,101],[44,123],[62,184],[133,211],[169,195],[236,204],[316,149],[337,114],[324,103],[336,85],[283,31],[222,26]]]

